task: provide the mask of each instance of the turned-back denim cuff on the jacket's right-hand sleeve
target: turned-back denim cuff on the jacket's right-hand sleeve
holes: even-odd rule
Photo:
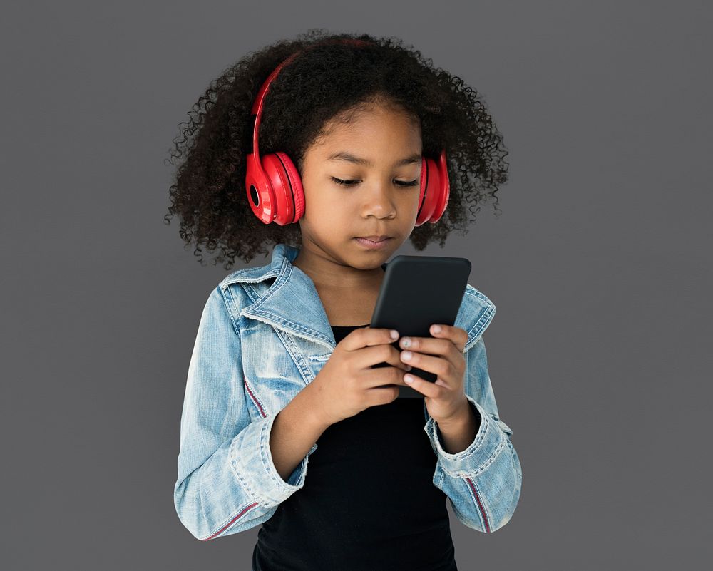
[[[498,423],[483,410],[473,397],[466,394],[466,398],[473,404],[481,416],[481,425],[478,427],[476,438],[461,452],[451,454],[445,451],[443,443],[438,436],[438,423],[429,415],[424,431],[434,443],[438,461],[443,470],[449,475],[464,478],[475,476],[485,470],[495,457],[505,448],[505,433]]]

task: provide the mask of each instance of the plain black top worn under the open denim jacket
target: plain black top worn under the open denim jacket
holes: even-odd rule
[[[458,571],[425,423],[423,398],[396,398],[329,426],[304,486],[262,524],[253,571]]]

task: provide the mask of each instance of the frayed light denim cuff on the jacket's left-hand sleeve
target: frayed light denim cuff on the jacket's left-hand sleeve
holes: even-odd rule
[[[245,488],[263,505],[277,505],[302,488],[307,475],[309,455],[317,450],[312,445],[307,456],[292,471],[287,482],[277,472],[270,452],[270,431],[277,413],[253,421],[233,438],[230,445],[230,463]]]

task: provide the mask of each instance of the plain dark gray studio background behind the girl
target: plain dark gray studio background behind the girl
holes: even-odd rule
[[[413,43],[510,150],[502,215],[423,252],[471,259],[498,307],[491,379],[523,464],[501,530],[451,511],[459,569],[704,566],[713,10],[672,4],[6,7],[1,567],[250,569],[257,528],[199,542],[173,507],[190,352],[228,272],[164,224],[164,161],[212,78],[313,27]]]

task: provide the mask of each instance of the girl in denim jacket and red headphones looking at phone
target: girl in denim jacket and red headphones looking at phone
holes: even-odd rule
[[[395,38],[319,29],[250,53],[197,105],[175,142],[181,237],[226,269],[274,248],[203,309],[178,517],[200,540],[262,524],[253,571],[456,570],[446,498],[491,533],[520,496],[482,337],[496,308],[468,284],[429,337],[369,321],[386,259],[407,238],[443,247],[506,182],[486,107]]]

